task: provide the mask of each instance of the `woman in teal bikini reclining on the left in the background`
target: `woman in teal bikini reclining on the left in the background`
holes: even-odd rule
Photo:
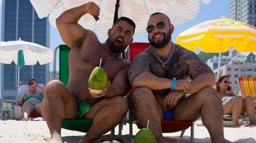
[[[42,109],[42,100],[44,97],[44,88],[42,88],[39,84],[36,83],[35,79],[29,80],[29,93],[23,93],[23,95],[19,98],[18,102],[22,104],[23,110],[23,121],[28,121],[28,117],[30,112],[36,111],[44,117],[44,111]],[[36,88],[42,90],[42,92],[36,92]]]

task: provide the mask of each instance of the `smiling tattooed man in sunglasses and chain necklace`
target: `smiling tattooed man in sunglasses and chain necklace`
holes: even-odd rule
[[[134,116],[144,128],[150,120],[148,128],[158,143],[166,142],[161,120],[200,117],[212,142],[230,142],[224,138],[219,95],[211,87],[215,84],[212,70],[194,52],[172,42],[174,25],[165,14],[152,14],[147,25],[152,46],[134,56],[128,71]]]

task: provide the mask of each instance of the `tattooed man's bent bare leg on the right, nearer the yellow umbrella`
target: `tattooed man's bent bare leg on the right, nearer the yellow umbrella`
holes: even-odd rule
[[[230,142],[224,138],[220,97],[212,87],[205,87],[183,99],[174,109],[173,120],[196,121],[200,115],[209,131],[211,142]]]

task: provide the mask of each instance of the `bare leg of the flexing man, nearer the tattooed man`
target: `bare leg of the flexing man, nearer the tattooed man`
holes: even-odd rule
[[[109,132],[120,123],[127,110],[128,100],[120,96],[95,103],[84,116],[84,119],[93,119],[93,125],[79,142],[90,143]]]

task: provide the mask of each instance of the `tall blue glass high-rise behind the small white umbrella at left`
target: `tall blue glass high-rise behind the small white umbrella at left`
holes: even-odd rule
[[[23,41],[37,43],[49,48],[50,24],[48,18],[38,18],[29,0],[3,0],[1,41]],[[1,64],[1,106],[3,102],[17,102],[17,66]],[[24,66],[19,72],[19,85],[28,84],[34,78],[37,83],[49,81],[49,64]]]

